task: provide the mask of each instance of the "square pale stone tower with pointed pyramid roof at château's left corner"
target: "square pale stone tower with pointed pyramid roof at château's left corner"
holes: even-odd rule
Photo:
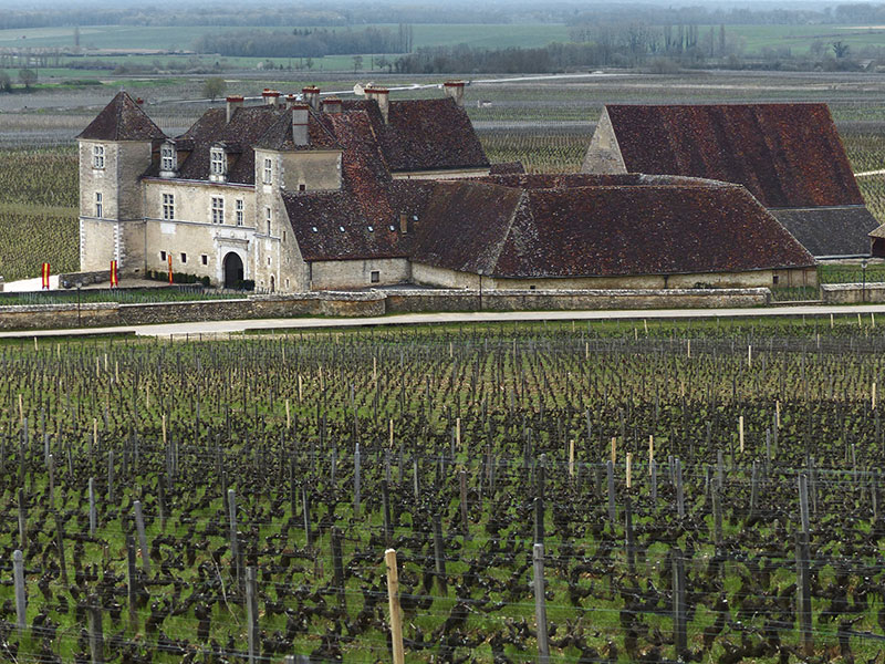
[[[77,136],[80,269],[142,272],[145,212],[140,176],[166,136],[128,93],[119,92]]]

